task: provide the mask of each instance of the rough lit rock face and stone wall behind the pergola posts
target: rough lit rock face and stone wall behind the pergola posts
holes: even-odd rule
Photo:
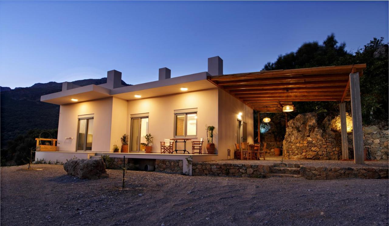
[[[347,115],[349,159],[354,158],[352,119]],[[318,121],[317,114],[306,113],[288,122],[283,152],[285,159],[342,159],[339,116],[327,116]],[[388,130],[382,126],[363,127],[364,147],[370,148],[371,159],[388,159]],[[387,127],[385,128],[387,129]]]

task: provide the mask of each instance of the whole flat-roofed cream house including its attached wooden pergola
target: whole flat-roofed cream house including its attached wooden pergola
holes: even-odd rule
[[[342,159],[349,159],[345,101],[351,102],[354,161],[364,162],[359,77],[366,64],[328,66],[240,74],[223,74],[220,57],[208,59],[208,71],[170,78],[170,69],[159,69],[158,81],[123,86],[121,72],[108,71],[107,83],[76,86],[65,82],[62,91],[41,97],[60,105],[58,149],[37,151],[35,160],[65,162],[73,157],[89,159],[102,154],[130,159],[182,160],[193,162],[232,159],[235,143],[254,143],[259,112],[293,111],[293,102],[339,102],[342,128]],[[258,112],[254,125],[253,112]],[[214,126],[215,154],[207,154],[206,126]],[[152,153],[142,148],[144,135],[153,138]],[[130,136],[128,153],[121,136]],[[161,141],[187,141],[188,152],[161,153]],[[192,154],[191,141],[205,141],[202,154]],[[257,141],[257,140],[256,140]],[[258,142],[260,140],[258,139]],[[183,143],[179,143],[183,149]],[[230,150],[230,151],[228,151]],[[288,152],[288,150],[284,150]],[[184,164],[184,172],[189,172]]]

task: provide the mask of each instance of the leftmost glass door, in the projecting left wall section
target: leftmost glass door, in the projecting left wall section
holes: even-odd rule
[[[91,151],[93,138],[93,114],[78,116],[77,151]]]

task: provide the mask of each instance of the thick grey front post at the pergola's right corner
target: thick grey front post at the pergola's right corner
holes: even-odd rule
[[[359,72],[350,73],[350,94],[352,114],[352,141],[354,146],[354,162],[364,164],[361,91],[359,88]]]

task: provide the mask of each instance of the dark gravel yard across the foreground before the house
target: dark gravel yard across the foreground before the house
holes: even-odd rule
[[[227,178],[1,167],[2,225],[388,225],[388,180]]]

